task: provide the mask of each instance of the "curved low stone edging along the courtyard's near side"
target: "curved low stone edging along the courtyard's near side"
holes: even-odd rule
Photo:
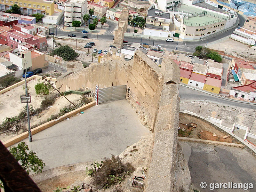
[[[86,161],[86,162],[81,162],[81,163],[63,165],[60,167],[48,169],[41,173],[35,173],[32,175],[29,175],[29,177],[31,177],[31,179],[34,180],[35,183],[38,183],[40,181],[51,179],[53,177],[63,175],[66,173],[70,173],[70,172],[84,171],[84,175],[86,175],[86,167],[91,167],[91,164],[93,162],[94,161]]]

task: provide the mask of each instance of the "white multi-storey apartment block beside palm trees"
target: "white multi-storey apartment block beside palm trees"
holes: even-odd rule
[[[72,26],[72,21],[83,23],[83,16],[87,12],[87,0],[69,0],[65,3],[64,25]]]

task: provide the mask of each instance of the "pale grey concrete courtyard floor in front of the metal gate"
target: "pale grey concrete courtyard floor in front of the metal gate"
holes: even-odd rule
[[[44,161],[45,171],[119,155],[148,134],[150,131],[140,123],[127,100],[116,100],[93,106],[84,114],[32,135],[32,142],[23,141]]]

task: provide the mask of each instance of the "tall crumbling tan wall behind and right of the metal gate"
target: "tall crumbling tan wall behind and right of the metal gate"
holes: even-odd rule
[[[56,87],[61,92],[78,90],[87,87],[95,90],[95,86],[105,88],[127,84],[126,99],[137,112],[142,124],[151,130],[156,119],[163,76],[160,68],[140,50],[134,59],[125,61],[123,58],[105,54],[103,63],[93,63],[83,70],[72,73],[64,78],[57,78]],[[160,87],[159,87],[160,86]]]

